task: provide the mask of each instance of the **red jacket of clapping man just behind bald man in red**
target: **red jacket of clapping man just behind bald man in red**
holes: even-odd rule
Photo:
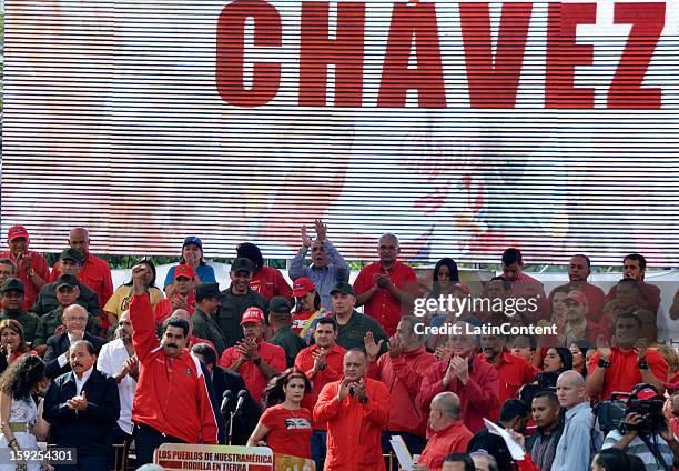
[[[460,381],[453,380],[448,389],[445,389],[443,379],[447,368],[447,361],[438,361],[425,374],[417,397],[423,413],[428,415],[429,404],[436,394],[450,391],[459,395],[463,422],[467,429],[473,433],[484,430],[484,418],[487,418],[490,411],[498,407],[499,374],[497,370],[474,355],[467,384],[463,385]]]

